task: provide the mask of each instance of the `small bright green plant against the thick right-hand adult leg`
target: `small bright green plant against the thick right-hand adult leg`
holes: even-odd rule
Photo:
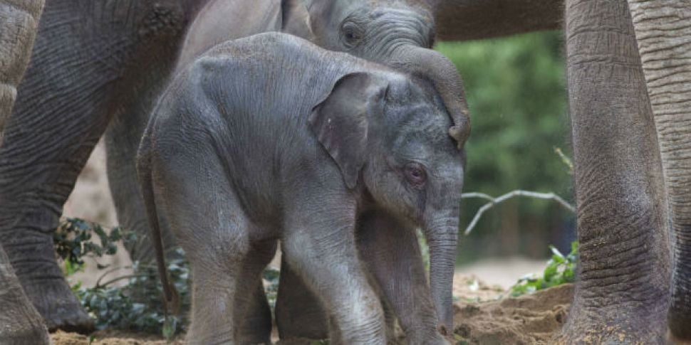
[[[571,253],[568,253],[566,256],[561,254],[553,245],[550,245],[549,249],[552,251],[552,257],[547,262],[542,276],[527,275],[522,277],[516,285],[511,287],[512,297],[573,282],[576,279],[578,242],[574,241],[571,243]]]

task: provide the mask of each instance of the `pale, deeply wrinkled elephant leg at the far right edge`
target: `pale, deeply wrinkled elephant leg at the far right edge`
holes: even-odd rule
[[[677,337],[691,339],[691,3],[629,0],[658,129],[672,222],[672,305]]]

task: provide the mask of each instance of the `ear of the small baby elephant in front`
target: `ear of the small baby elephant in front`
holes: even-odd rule
[[[309,117],[310,129],[350,189],[365,164],[370,121],[383,115],[387,86],[368,73],[344,75]]]

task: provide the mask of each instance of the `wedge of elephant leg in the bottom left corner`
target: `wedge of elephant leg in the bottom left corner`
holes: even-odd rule
[[[41,315],[24,294],[0,246],[0,344],[50,344]]]

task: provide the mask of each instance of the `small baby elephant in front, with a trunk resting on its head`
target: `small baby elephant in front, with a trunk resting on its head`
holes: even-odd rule
[[[451,318],[464,161],[451,126],[429,83],[294,36],[228,41],[191,63],[160,98],[137,159],[154,238],[160,215],[192,266],[187,340],[268,341],[253,322],[266,310],[256,287],[281,240],[333,343],[386,344],[386,307],[411,344],[447,344],[437,325]],[[356,234],[362,222],[372,226]],[[422,228],[430,286],[373,278],[357,243],[378,225],[406,238]],[[405,270],[397,255],[375,258],[379,269]]]

